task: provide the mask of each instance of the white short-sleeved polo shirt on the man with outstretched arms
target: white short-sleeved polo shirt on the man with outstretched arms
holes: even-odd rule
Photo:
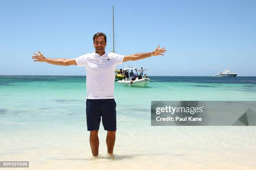
[[[77,66],[85,66],[87,99],[113,99],[115,67],[123,63],[123,55],[113,52],[87,53],[75,58]]]

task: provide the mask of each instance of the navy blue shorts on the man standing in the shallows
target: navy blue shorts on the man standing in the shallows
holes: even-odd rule
[[[86,122],[87,130],[98,130],[100,120],[104,130],[116,130],[116,103],[114,99],[87,99]]]

